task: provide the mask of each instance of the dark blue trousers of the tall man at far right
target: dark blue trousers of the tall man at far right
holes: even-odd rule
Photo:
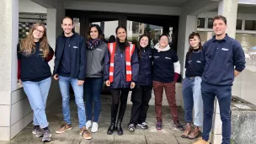
[[[222,144],[230,144],[231,136],[231,94],[232,86],[216,86],[202,82],[201,91],[204,102],[204,131],[202,137],[208,141],[212,126],[212,115],[214,112],[214,101],[217,97],[220,105],[222,121]]]

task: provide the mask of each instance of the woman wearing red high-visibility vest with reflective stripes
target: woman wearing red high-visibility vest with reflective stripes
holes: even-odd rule
[[[139,62],[135,45],[127,41],[125,27],[115,29],[116,41],[109,43],[104,59],[104,81],[110,88],[112,95],[111,123],[108,135],[116,130],[117,135],[123,135],[121,123],[125,115],[128,93],[134,88],[138,79]],[[119,115],[116,122],[117,111],[120,104]]]

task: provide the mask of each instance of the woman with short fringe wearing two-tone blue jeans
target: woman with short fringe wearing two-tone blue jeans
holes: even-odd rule
[[[181,137],[195,139],[200,136],[200,126],[203,125],[203,99],[201,95],[201,76],[202,64],[201,58],[201,40],[198,33],[193,32],[189,35],[189,51],[186,55],[185,68],[186,77],[182,84],[182,93],[184,97],[186,130]],[[192,130],[193,107],[195,108],[195,128]]]

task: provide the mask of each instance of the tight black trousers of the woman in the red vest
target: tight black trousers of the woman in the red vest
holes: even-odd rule
[[[118,122],[121,123],[124,115],[125,115],[125,109],[127,106],[127,98],[130,88],[115,88],[111,89],[111,95],[112,95],[112,105],[111,105],[111,122],[115,123],[119,104],[119,115],[118,115]]]

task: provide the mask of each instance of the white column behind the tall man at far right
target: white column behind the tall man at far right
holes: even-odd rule
[[[236,37],[236,25],[237,25],[237,6],[238,0],[221,0],[219,3],[218,14],[227,18],[227,35],[232,38]],[[220,144],[222,141],[221,131],[222,122],[220,115],[219,103],[215,102],[215,112],[213,115],[213,125],[211,131],[212,144]]]

